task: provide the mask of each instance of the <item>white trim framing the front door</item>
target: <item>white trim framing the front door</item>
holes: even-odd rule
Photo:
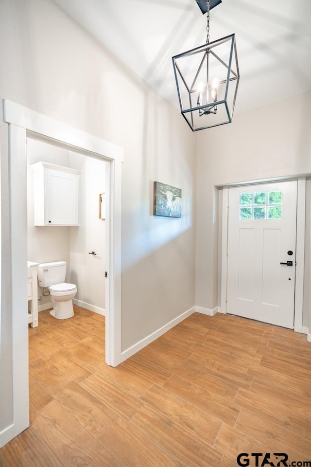
[[[279,178],[277,181],[297,181],[297,224],[296,224],[296,277],[295,277],[295,301],[294,301],[294,331],[303,332],[303,282],[305,264],[305,222],[306,222],[306,177]],[[272,180],[252,180],[249,182],[232,183],[223,185],[222,205],[222,260],[221,260],[221,303],[220,311],[227,312],[227,282],[228,282],[228,199],[229,188],[233,186],[250,186],[261,183],[273,183]]]

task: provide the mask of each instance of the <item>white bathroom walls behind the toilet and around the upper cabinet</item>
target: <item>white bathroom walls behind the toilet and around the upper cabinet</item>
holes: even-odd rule
[[[32,164],[39,161],[81,171],[79,227],[34,225]],[[29,138],[27,165],[28,260],[66,261],[66,281],[78,289],[74,303],[104,314],[105,221],[99,219],[99,194],[105,192],[105,162]],[[96,256],[89,251],[95,251]],[[42,295],[41,287],[38,296],[39,310],[51,306],[50,296]]]

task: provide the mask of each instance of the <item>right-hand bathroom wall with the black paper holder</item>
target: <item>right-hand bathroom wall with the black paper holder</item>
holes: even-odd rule
[[[70,227],[70,281],[75,303],[105,313],[105,221],[99,219],[99,195],[105,192],[106,162],[70,152],[71,168],[81,171],[80,227]],[[96,256],[89,254],[95,251]]]

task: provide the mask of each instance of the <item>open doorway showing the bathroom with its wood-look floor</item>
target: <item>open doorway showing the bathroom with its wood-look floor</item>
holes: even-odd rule
[[[91,368],[103,364],[108,164],[27,138],[28,260],[34,275],[28,279],[31,423],[38,406],[50,401],[56,390],[68,381],[78,384]],[[53,302],[55,292],[40,287],[41,275],[36,277],[55,268],[66,276],[44,286],[73,289],[58,297],[67,294],[66,302]]]

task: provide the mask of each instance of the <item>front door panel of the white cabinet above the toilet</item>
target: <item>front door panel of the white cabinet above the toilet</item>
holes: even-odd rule
[[[79,225],[79,176],[46,171],[46,224]]]

